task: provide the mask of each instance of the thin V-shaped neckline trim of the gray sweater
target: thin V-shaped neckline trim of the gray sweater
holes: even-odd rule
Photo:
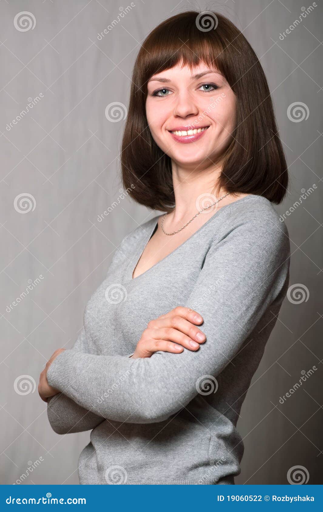
[[[170,252],[169,254],[167,254],[164,258],[162,258],[161,260],[157,261],[157,263],[155,263],[154,265],[152,265],[150,268],[148,268],[147,270],[145,270],[145,272],[142,272],[141,274],[137,275],[136,278],[133,278],[133,272],[136,268],[136,266],[138,265],[139,263],[139,260],[140,258],[142,257],[143,253],[144,253],[144,250],[146,249],[146,246],[148,245],[148,242],[149,240],[151,239],[157,225],[158,225],[158,220],[159,218],[162,216],[162,215],[165,215],[165,214],[162,214],[162,215],[159,215],[157,217],[157,219],[151,224],[151,228],[148,230],[148,234],[147,236],[145,236],[142,240],[141,243],[139,243],[139,246],[138,246],[138,250],[136,251],[135,253],[135,266],[132,265],[132,260],[130,260],[129,262],[129,265],[128,265],[128,275],[127,275],[127,281],[130,281],[131,283],[136,281],[137,279],[141,278],[142,276],[144,275],[147,275],[148,272],[151,272],[153,269],[155,269],[158,265],[160,265],[161,263],[165,262],[168,258],[170,258],[176,251],[178,251],[179,249],[183,248],[183,246],[185,244],[187,244],[189,241],[191,241],[195,235],[197,233],[199,233],[202,229],[204,229],[208,224],[210,224],[210,222],[214,219],[214,217],[218,217],[221,213],[221,211],[223,210],[226,210],[232,206],[234,206],[236,203],[241,203],[251,197],[261,197],[264,199],[263,196],[258,196],[256,194],[249,194],[248,196],[244,196],[244,197],[241,197],[240,199],[237,199],[236,201],[233,201],[233,203],[229,203],[229,204],[226,204],[225,206],[221,207],[218,211],[215,212],[215,214],[212,215],[212,217],[210,217],[210,219],[208,219],[201,227],[199,227],[193,234],[191,234],[191,236],[186,239],[182,244],[180,244],[178,247],[176,247],[174,250],[172,250],[172,252]],[[153,221],[155,218],[151,219],[151,221]],[[149,225],[147,226],[149,227]]]

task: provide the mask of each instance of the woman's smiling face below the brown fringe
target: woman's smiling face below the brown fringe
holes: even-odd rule
[[[236,108],[223,75],[202,62],[192,72],[179,63],[153,75],[147,86],[148,124],[164,153],[194,168],[206,168],[223,154],[232,139]]]

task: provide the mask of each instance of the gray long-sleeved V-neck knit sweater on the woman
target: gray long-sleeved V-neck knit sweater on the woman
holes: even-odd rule
[[[60,391],[53,430],[92,431],[80,484],[233,484],[241,471],[236,424],[288,289],[287,227],[266,198],[245,196],[132,279],[157,220],[120,243],[74,346],[47,372]],[[206,342],[129,358],[148,322],[180,305],[203,316]]]

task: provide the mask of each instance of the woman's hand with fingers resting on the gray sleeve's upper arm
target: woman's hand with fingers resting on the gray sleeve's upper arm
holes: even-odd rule
[[[151,357],[158,350],[179,353],[183,352],[183,347],[197,350],[206,340],[205,334],[195,326],[202,322],[203,318],[196,311],[177,306],[149,322],[131,357]]]

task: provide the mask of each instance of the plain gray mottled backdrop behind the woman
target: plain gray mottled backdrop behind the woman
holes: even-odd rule
[[[90,433],[59,436],[51,430],[37,393],[39,373],[56,348],[74,343],[85,305],[123,237],[160,213],[122,199],[118,156],[124,115],[111,122],[105,112],[110,103],[128,105],[140,41],[161,20],[194,8],[228,16],[255,49],[272,92],[291,177],[288,198],[276,209],[290,213],[293,288],[241,410],[238,430],[245,455],[236,483],[288,483],[294,466],[306,468],[308,483],[323,483],[323,4],[317,0],[313,12],[283,40],[279,35],[310,3],[133,4],[119,20],[130,2],[0,4],[1,483],[14,483],[37,460],[41,464],[25,484],[78,483],[77,459]],[[33,28],[18,30],[14,18],[21,11],[32,13]],[[118,23],[99,39],[113,20]],[[31,111],[13,124],[36,97]],[[309,114],[301,121],[287,115],[289,106],[299,102]],[[302,189],[309,193],[293,208]],[[31,195],[29,203],[16,199],[15,204],[20,194]],[[98,222],[114,201],[118,206]],[[10,310],[37,278],[28,296]],[[296,289],[301,292],[294,294]],[[313,365],[313,375],[279,403]],[[24,388],[23,375],[29,387]]]

